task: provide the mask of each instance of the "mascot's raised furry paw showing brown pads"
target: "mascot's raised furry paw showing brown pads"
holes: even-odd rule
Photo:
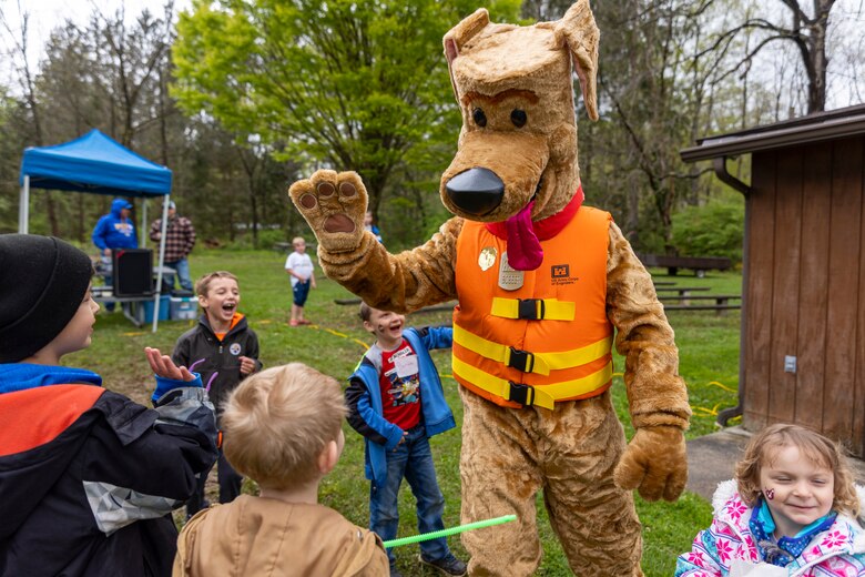
[[[319,170],[292,184],[288,194],[325,250],[339,253],[360,246],[367,194],[356,172]]]

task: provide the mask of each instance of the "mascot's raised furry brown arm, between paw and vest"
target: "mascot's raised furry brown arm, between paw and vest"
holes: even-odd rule
[[[462,219],[452,217],[421,246],[393,255],[370,233],[350,252],[318,249],[325,274],[376,308],[409,313],[456,297],[454,269]]]

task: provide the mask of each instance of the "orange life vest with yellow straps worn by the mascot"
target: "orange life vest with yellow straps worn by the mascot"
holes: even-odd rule
[[[452,370],[460,385],[501,406],[550,409],[609,388],[611,220],[581,206],[558,234],[541,240],[541,265],[525,272],[502,266],[503,239],[466,221],[457,240],[454,310]]]

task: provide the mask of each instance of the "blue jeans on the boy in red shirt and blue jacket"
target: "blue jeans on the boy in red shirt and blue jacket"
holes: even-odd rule
[[[445,497],[438,488],[436,467],[432,464],[432,452],[424,425],[408,431],[405,441],[387,454],[387,482],[378,487],[373,482],[369,492],[369,528],[381,537],[381,540],[396,538],[399,527],[399,509],[397,495],[403,477],[411,487],[417,499],[417,529],[419,533],[430,533],[445,528],[441,515],[445,513]],[[420,541],[420,553],[425,559],[438,560],[446,557],[450,549],[445,537]],[[396,558],[393,549],[388,549],[390,565]]]

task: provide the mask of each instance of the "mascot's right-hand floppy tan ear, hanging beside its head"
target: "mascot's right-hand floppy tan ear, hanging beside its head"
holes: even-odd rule
[[[556,40],[562,42],[571,52],[573,70],[580,79],[582,101],[586,112],[598,120],[598,40],[601,33],[594,23],[589,0],[578,0],[556,22]],[[447,38],[447,37],[446,37]]]

